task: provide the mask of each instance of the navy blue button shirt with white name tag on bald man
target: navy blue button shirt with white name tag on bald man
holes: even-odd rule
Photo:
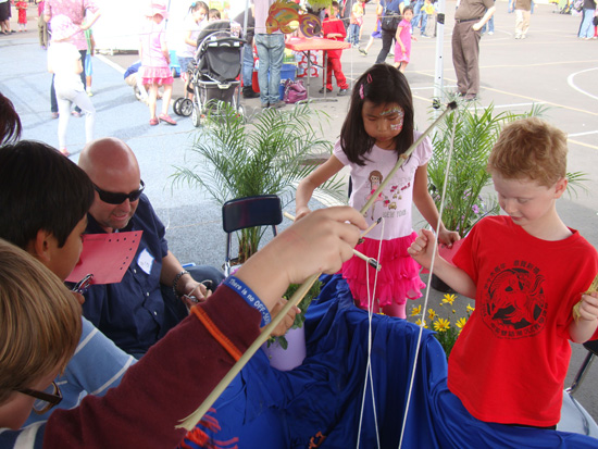
[[[91,214],[87,219],[87,234],[105,233]],[[165,228],[145,195],[121,229],[129,230],[144,234],[123,280],[91,286],[85,294],[83,314],[124,351],[142,354],[176,324],[169,317],[160,290],[162,259],[169,252]]]

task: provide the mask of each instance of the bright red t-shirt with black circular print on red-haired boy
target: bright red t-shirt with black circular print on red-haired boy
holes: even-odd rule
[[[572,308],[598,273],[577,230],[540,240],[509,216],[482,220],[453,258],[476,288],[475,311],[449,358],[448,387],[478,420],[559,422]]]

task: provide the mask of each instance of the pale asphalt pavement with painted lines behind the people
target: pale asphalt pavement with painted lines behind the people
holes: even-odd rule
[[[366,7],[363,45],[373,30],[374,7]],[[451,63],[450,34],[453,24],[454,1],[447,2],[447,26],[440,65],[444,67],[444,86],[454,89],[456,78]],[[13,29],[17,29],[13,11]],[[50,119],[51,75],[46,71],[46,51],[37,40],[36,10],[29,10],[27,33],[0,37],[0,91],[15,104],[24,125],[23,138],[43,140],[58,146],[58,121]],[[507,3],[497,2],[494,35],[485,35],[481,42],[481,79],[478,108],[494,104],[495,110],[528,111],[534,104],[548,108],[545,117],[569,134],[569,171],[587,173],[587,194],[559,201],[564,222],[580,229],[593,245],[598,246],[597,211],[598,176],[594,167],[598,160],[598,41],[576,38],[581,17],[558,14],[553,4],[537,4],[531,18],[527,39],[514,39],[514,14],[507,13]],[[418,36],[412,46],[411,63],[407,70],[415,105],[415,122],[420,129],[431,123],[434,97],[435,64],[438,60],[437,39]],[[342,55],[344,72],[350,82],[374,63],[381,48],[374,42],[367,57],[357,49]],[[96,137],[113,136],[125,140],[135,151],[146,182],[146,191],[159,215],[167,226],[171,250],[183,262],[208,263],[221,266],[224,261],[225,234],[221,226],[221,211],[207,196],[188,186],[172,185],[175,166],[188,162],[188,149],[201,135],[190,117],[176,116],[177,126],[160,124],[149,126],[149,111],[137,101],[133,90],[123,80],[124,70],[135,54],[107,54],[94,59],[94,97],[98,111]],[[390,61],[390,60],[388,60]],[[311,79],[310,97],[317,93],[321,79]],[[325,137],[338,137],[348,108],[348,98],[314,102],[312,107],[325,111],[329,122],[324,126]],[[175,80],[173,98],[183,95],[180,79]],[[246,113],[260,112],[259,99],[244,100]],[[287,105],[286,108],[291,108]],[[173,113],[171,115],[174,116]],[[71,119],[68,150],[77,160],[85,145],[84,119]],[[314,207],[322,204],[314,202]],[[294,205],[289,204],[289,212]],[[283,224],[288,225],[287,223]],[[418,228],[420,223],[414,223]],[[267,234],[267,233],[266,233]],[[425,278],[424,278],[425,280]],[[441,297],[431,295],[431,302]],[[421,303],[414,301],[414,304]],[[461,301],[465,304],[466,301]],[[577,371],[586,351],[573,345],[573,358],[565,385]],[[539,375],[539,374],[538,374]],[[598,366],[589,370],[576,398],[598,420]]]

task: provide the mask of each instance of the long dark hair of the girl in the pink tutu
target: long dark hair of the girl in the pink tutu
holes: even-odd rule
[[[363,126],[362,111],[365,100],[375,105],[395,103],[403,109],[402,130],[395,137],[397,155],[413,144],[413,98],[407,78],[393,65],[372,65],[353,86],[349,113],[340,129],[340,148],[349,161],[361,166],[365,165],[366,154],[375,144],[375,139],[365,133]]]

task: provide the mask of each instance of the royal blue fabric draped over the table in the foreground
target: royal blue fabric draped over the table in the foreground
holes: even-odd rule
[[[281,372],[259,351],[215,402],[213,416],[220,429],[202,427],[212,438],[212,446],[203,447],[225,448],[238,441],[242,449],[346,449],[358,447],[358,434],[359,448],[376,448],[378,439],[382,448],[399,447],[420,328],[404,320],[372,317],[372,390],[365,379],[367,313],[353,305],[340,275],[322,280],[320,299],[307,313],[303,363]],[[583,435],[481,422],[448,390],[446,376],[445,352],[424,329],[403,448],[598,446]]]

